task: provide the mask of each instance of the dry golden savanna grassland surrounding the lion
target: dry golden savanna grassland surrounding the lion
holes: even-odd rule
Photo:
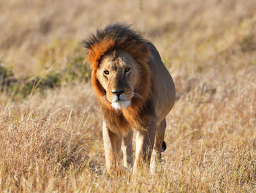
[[[176,83],[159,173],[108,176],[81,40],[132,23]],[[256,1],[1,1],[0,192],[256,192]]]

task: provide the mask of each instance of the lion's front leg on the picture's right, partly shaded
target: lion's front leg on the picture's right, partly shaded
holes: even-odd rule
[[[148,121],[145,129],[138,130],[136,135],[136,156],[133,173],[138,173],[141,162],[149,162],[157,130],[157,120]]]

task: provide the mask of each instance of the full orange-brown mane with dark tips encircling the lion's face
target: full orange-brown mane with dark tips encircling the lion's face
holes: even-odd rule
[[[108,124],[117,127],[113,132],[126,135],[129,127],[140,128],[141,124],[147,120],[148,104],[151,103],[151,69],[148,65],[148,58],[151,54],[147,47],[148,41],[143,39],[135,31],[124,24],[113,24],[103,30],[98,30],[89,39],[83,41],[83,45],[88,49],[88,59],[91,61],[91,83],[94,87],[100,108]],[[106,91],[97,79],[97,69],[103,56],[113,51],[123,50],[129,53],[140,65],[140,78],[138,88],[135,92],[140,94],[143,99],[132,98],[132,105],[124,110],[114,110],[110,102],[102,103],[100,99],[105,96]],[[149,103],[148,103],[149,102]]]

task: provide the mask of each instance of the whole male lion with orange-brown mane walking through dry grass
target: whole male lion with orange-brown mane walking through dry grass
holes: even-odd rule
[[[165,116],[176,95],[173,79],[157,49],[124,24],[97,31],[84,46],[89,50],[91,83],[103,116],[108,173],[122,171],[118,160],[121,148],[124,167],[132,167],[132,130],[137,131],[134,173],[140,168],[140,160],[147,162],[150,158],[154,172],[165,149]]]

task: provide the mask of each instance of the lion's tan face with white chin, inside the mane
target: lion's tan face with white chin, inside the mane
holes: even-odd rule
[[[114,109],[126,108],[131,105],[138,82],[138,63],[129,53],[118,51],[102,58],[97,70],[97,79],[106,91],[107,99]]]

